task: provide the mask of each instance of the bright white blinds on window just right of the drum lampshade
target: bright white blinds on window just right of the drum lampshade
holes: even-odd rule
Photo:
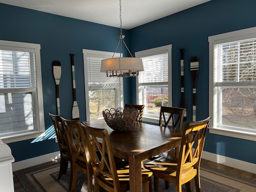
[[[140,72],[140,84],[162,85],[168,82],[168,53],[143,57],[144,71]]]

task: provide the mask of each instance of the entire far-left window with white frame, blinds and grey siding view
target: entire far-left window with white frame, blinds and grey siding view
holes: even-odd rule
[[[0,40],[0,137],[44,136],[40,45]]]

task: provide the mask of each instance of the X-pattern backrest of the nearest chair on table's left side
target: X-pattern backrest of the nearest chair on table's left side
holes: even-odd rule
[[[111,183],[113,183],[115,191],[120,191],[120,184],[108,131],[106,129],[90,127],[84,124],[84,122],[80,122],[80,125],[84,129],[87,147],[92,162],[94,179],[98,176],[101,179],[108,177],[109,180],[111,178]],[[96,153],[96,149],[100,152],[100,156]],[[105,180],[104,182],[108,182],[108,180]]]

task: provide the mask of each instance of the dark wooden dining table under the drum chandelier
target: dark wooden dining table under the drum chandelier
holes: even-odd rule
[[[130,192],[142,192],[141,162],[180,146],[182,131],[136,122],[124,132],[112,130],[104,119],[85,122],[94,128],[105,128],[114,156],[129,162]]]

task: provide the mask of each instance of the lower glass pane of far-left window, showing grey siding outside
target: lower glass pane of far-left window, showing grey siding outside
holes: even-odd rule
[[[0,104],[0,135],[34,129],[32,93],[6,93]]]

